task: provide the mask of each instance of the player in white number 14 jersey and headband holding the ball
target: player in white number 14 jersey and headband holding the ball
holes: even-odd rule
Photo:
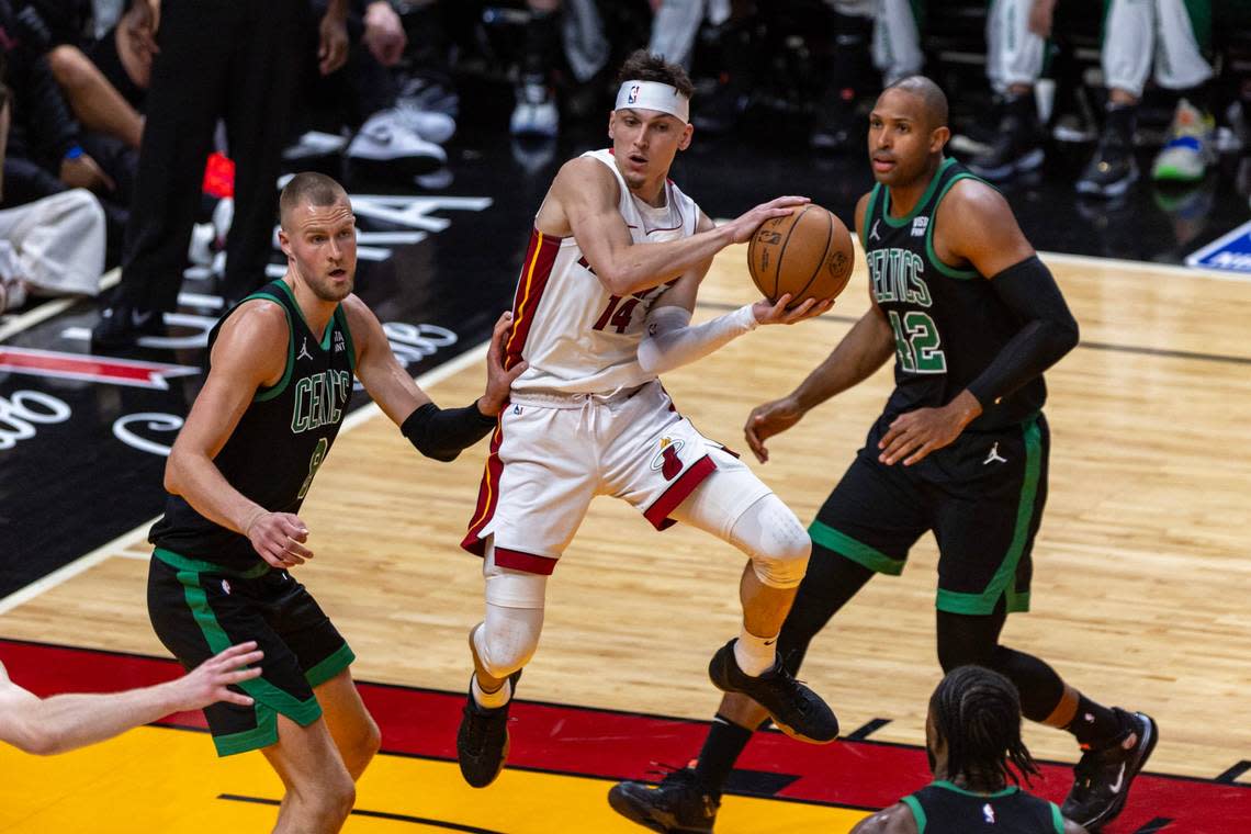
[[[691,144],[686,73],[639,51],[619,80],[612,149],[565,163],[534,219],[505,359],[527,369],[500,415],[463,543],[485,560],[487,615],[470,631],[475,673],[457,739],[474,786],[503,768],[508,704],[538,646],[547,576],[595,495],[629,501],[657,529],[686,521],[746,553],[743,629],[713,656],[713,683],[748,694],[806,740],[831,741],[838,730],[773,646],[804,574],[807,531],[657,380],[759,324],[829,308],[808,299],[787,311],[783,296],[691,325],[713,255],[807,200],[778,198],[717,226],[668,179]]]

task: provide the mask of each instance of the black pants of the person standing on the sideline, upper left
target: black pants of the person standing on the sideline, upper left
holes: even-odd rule
[[[166,0],[116,304],[174,310],[218,119],[235,163],[228,299],[264,283],[306,0]]]

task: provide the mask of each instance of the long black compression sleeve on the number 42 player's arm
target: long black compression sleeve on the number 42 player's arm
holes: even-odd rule
[[[1037,255],[991,279],[996,295],[1023,323],[968,391],[990,408],[1055,365],[1077,344],[1077,321]]]

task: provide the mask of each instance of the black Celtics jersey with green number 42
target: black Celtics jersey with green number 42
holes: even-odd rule
[[[891,190],[873,186],[864,211],[864,258],[873,298],[894,331],[894,391],[886,421],[918,408],[950,403],[986,370],[1021,329],[1022,321],[998,299],[987,276],[957,269],[934,253],[938,205],[962,179],[977,179],[948,159],[940,165],[916,208],[891,215]],[[1042,409],[1042,376],[998,403],[983,403],[968,430],[1010,426]]]

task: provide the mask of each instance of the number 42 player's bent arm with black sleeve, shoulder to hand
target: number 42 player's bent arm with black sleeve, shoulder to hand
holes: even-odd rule
[[[879,460],[912,465],[951,444],[988,405],[1042,374],[1077,344],[1077,321],[1003,196],[976,180],[952,186],[934,218],[934,250],[952,265],[990,276],[1023,323],[967,389],[936,409],[901,414],[882,436]]]

